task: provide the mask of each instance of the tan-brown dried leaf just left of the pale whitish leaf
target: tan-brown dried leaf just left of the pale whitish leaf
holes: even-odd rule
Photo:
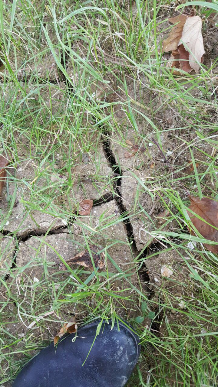
[[[184,24],[188,18],[189,17],[187,15],[178,15],[168,19],[170,23],[173,23],[173,24],[177,23],[177,24],[176,26],[173,26],[173,28],[171,29],[168,35],[168,38],[164,39],[163,41],[163,47],[162,47],[163,53],[176,50],[182,36]]]

